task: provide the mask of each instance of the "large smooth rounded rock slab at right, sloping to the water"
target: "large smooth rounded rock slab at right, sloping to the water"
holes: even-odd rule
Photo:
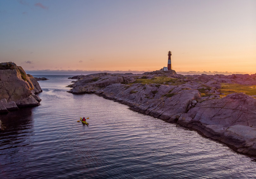
[[[238,152],[256,154],[256,99],[244,93],[197,103],[177,123],[233,146]]]

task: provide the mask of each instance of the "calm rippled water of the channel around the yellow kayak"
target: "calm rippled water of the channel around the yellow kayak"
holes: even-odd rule
[[[255,178],[256,160],[127,106],[37,76],[41,105],[0,118],[0,178]],[[89,126],[77,122],[89,117]]]

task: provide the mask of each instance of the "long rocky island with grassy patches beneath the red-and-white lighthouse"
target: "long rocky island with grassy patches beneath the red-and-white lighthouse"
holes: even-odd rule
[[[179,75],[174,70],[143,74],[74,76],[69,91],[94,93],[132,110],[178,123],[256,155],[256,74]]]

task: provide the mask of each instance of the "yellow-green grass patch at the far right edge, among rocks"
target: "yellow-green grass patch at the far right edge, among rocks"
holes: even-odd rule
[[[232,93],[243,92],[247,95],[256,95],[256,85],[240,85],[237,83],[221,83],[221,89],[219,89],[221,93],[224,93],[224,96]]]

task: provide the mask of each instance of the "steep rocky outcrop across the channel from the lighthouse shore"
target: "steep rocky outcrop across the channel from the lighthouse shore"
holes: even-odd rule
[[[15,63],[0,64],[0,89],[0,111],[4,113],[6,109],[39,105],[40,98],[36,95],[42,92],[39,83]]]

